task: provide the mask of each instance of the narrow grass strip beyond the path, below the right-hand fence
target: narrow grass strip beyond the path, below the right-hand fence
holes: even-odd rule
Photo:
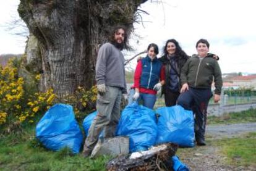
[[[229,114],[223,114],[220,117],[210,116],[207,119],[207,123],[211,125],[248,122],[256,122],[256,109],[249,109],[242,112],[231,112]]]

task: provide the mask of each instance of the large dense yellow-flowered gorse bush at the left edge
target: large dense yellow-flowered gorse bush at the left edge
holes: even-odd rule
[[[56,98],[53,89],[46,93],[25,90],[25,81],[18,75],[17,67],[9,61],[6,67],[0,67],[0,126],[10,123],[33,123],[37,114],[45,112]],[[38,75],[36,75],[38,80]],[[39,78],[40,79],[40,78]]]

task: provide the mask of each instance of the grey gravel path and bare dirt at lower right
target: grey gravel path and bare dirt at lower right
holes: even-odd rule
[[[239,123],[232,125],[207,126],[207,146],[195,146],[188,149],[186,154],[179,156],[190,170],[256,170],[255,167],[234,167],[224,164],[225,156],[220,148],[211,143],[216,139],[239,137],[244,133],[255,132],[256,123]]]

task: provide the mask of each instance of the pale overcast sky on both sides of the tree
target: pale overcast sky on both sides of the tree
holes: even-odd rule
[[[166,40],[175,38],[182,49],[196,53],[195,43],[200,38],[210,42],[210,52],[220,56],[223,73],[256,73],[255,1],[252,0],[163,0],[161,3],[145,2],[140,9],[143,25],[135,24],[135,34],[141,38],[130,40],[137,50],[143,51],[149,43],[163,48]],[[17,14],[19,0],[0,2],[0,25]],[[0,27],[0,54],[23,53],[25,39],[12,36]],[[159,55],[158,57],[160,57]],[[135,61],[134,65],[135,67]]]

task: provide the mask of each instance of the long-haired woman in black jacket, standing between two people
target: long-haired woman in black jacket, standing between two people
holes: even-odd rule
[[[181,49],[179,43],[174,40],[166,41],[164,46],[164,56],[160,58],[165,66],[165,84],[162,87],[161,94],[164,94],[164,101],[166,106],[176,105],[177,98],[179,97],[180,75],[181,69],[186,63],[189,56]]]

